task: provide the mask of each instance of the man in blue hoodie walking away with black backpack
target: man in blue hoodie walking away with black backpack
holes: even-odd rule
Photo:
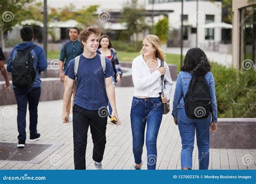
[[[12,86],[18,105],[18,144],[24,147],[26,141],[26,108],[29,104],[30,141],[40,137],[37,133],[37,106],[41,95],[40,73],[47,68],[47,60],[42,47],[32,42],[32,27],[25,25],[21,29],[23,43],[12,49],[7,63],[7,71],[12,74]]]

